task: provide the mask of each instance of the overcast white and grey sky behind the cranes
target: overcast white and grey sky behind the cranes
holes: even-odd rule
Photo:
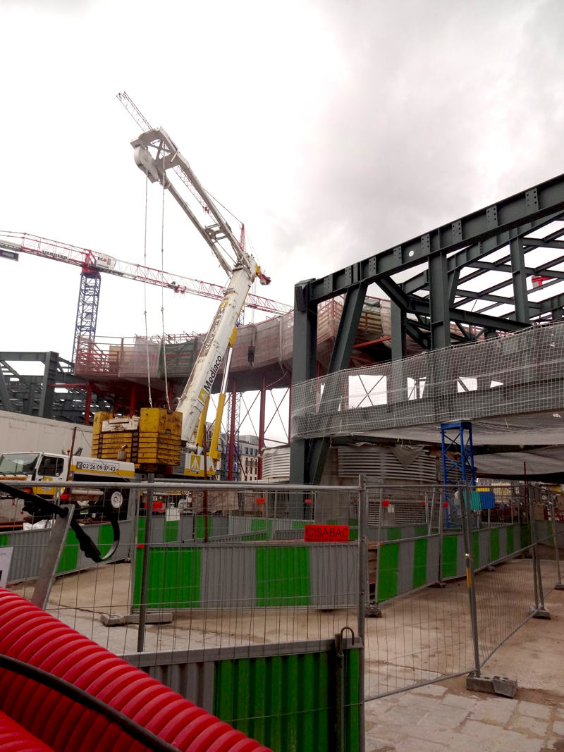
[[[564,172],[562,0],[2,0],[0,229],[142,262],[126,90],[293,284]],[[161,194],[149,190],[150,265]],[[165,205],[165,268],[223,283]],[[79,271],[0,259],[0,349],[70,358]],[[161,293],[148,295],[159,332]],[[165,293],[168,332],[211,302]],[[144,331],[143,287],[102,279],[99,335]]]

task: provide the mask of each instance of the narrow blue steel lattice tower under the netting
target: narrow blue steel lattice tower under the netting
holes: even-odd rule
[[[455,493],[462,486],[475,486],[474,447],[472,445],[472,423],[459,420],[455,423],[441,423],[441,445],[443,459],[444,499],[448,503],[444,523],[450,526],[450,510],[456,509]],[[457,461],[448,452],[460,453]],[[458,476],[460,474],[460,477]],[[465,492],[464,492],[465,493]],[[462,501],[462,499],[461,499]],[[468,499],[469,504],[469,499]]]

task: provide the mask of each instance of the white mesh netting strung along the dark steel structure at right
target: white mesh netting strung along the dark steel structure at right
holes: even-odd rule
[[[564,431],[564,321],[295,384],[292,436],[471,420],[490,433]]]

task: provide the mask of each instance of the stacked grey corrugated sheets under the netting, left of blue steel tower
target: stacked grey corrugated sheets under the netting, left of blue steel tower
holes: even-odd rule
[[[362,473],[379,482],[437,482],[437,460],[430,457],[426,450],[408,467],[399,462],[392,447],[338,447],[337,452],[339,478],[354,478]]]

